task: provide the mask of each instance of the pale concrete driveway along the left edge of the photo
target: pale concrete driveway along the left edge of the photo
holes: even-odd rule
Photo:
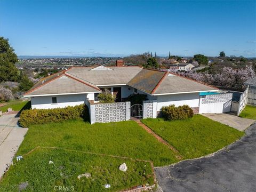
[[[18,119],[17,114],[0,117],[0,178],[12,163],[12,158],[28,131],[27,128],[19,127]]]

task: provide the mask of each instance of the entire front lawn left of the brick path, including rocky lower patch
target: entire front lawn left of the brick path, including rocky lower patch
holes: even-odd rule
[[[134,121],[91,125],[82,120],[69,120],[33,125],[18,155],[22,155],[23,160],[14,161],[16,165],[11,166],[1,180],[0,191],[18,191],[20,183],[26,181],[26,191],[54,191],[54,186],[75,186],[74,191],[117,191],[153,184],[150,163],[141,160],[153,161],[154,166],[178,161],[169,148]],[[49,165],[49,161],[54,164]],[[122,163],[127,165],[125,173],[118,169]],[[91,178],[77,179],[77,175],[86,172]],[[105,184],[111,187],[105,189]]]

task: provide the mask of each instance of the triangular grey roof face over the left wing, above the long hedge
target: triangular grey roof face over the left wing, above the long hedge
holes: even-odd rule
[[[66,93],[91,93],[100,92],[100,90],[86,85],[66,75],[48,81],[40,86],[33,87],[26,93],[27,96],[44,94],[66,94]]]

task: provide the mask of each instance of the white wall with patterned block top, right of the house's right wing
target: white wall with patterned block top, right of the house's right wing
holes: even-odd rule
[[[233,93],[220,93],[200,96],[199,114],[230,112],[232,97]]]

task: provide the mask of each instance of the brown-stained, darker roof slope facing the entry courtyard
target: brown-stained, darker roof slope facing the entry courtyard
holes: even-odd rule
[[[146,93],[151,93],[163,78],[165,72],[142,69],[127,85],[130,85]]]

